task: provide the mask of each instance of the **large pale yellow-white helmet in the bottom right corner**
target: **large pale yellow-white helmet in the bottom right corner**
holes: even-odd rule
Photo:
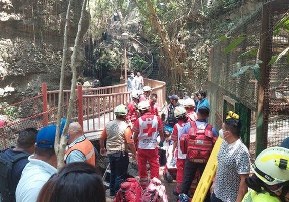
[[[269,186],[289,181],[289,149],[275,146],[263,150],[252,170]]]

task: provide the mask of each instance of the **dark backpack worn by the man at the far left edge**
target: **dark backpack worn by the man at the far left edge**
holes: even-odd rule
[[[3,198],[3,202],[7,201],[16,201],[15,199],[15,190],[13,190],[13,183],[12,183],[12,169],[14,164],[22,159],[27,159],[30,154],[28,153],[19,153],[13,159],[4,159],[2,155],[7,151],[9,148],[0,151],[0,192]]]

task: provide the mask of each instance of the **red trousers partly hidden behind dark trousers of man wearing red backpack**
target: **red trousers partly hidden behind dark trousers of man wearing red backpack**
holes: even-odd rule
[[[185,159],[177,159],[176,160],[176,167],[177,167],[177,173],[176,173],[176,192],[180,193],[180,187],[182,186],[183,178],[184,178],[184,168],[185,168]],[[190,186],[190,193],[195,193],[195,190],[197,188],[198,182],[200,178],[200,172],[197,170],[195,177],[192,181],[192,184]]]

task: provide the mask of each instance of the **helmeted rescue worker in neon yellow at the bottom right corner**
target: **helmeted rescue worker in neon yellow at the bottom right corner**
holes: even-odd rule
[[[252,190],[243,202],[288,202],[289,201],[289,149],[270,147],[263,150],[252,165],[254,174],[246,178]]]

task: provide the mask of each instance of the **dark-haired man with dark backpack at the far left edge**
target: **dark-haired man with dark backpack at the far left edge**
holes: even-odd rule
[[[17,138],[17,146],[10,147],[4,150],[0,155],[3,160],[14,161],[12,163],[11,176],[0,177],[0,180],[8,184],[10,190],[3,190],[4,187],[0,187],[0,192],[4,201],[15,201],[15,190],[20,180],[22,171],[28,161],[28,156],[34,153],[36,142],[37,130],[35,128],[27,128],[19,133]],[[17,160],[18,159],[18,160]],[[1,169],[3,165],[1,165]],[[8,182],[6,182],[8,181]],[[10,193],[7,193],[9,191]],[[8,198],[9,197],[9,198]]]

